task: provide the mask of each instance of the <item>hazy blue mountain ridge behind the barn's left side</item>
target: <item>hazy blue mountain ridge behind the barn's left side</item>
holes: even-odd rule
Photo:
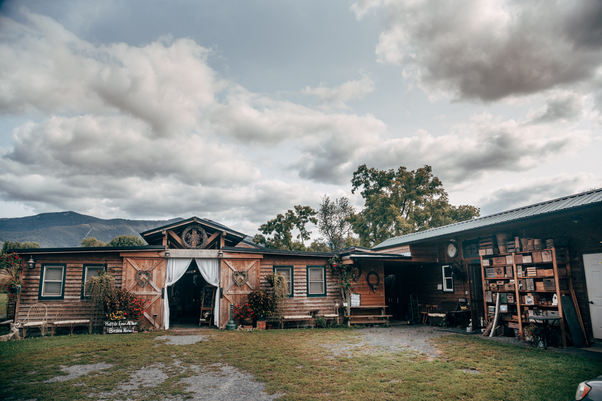
[[[101,219],[76,212],[40,213],[35,216],[0,218],[0,242],[34,241],[42,248],[80,246],[85,237],[108,242],[119,235],[137,235],[152,228],[184,220]]]

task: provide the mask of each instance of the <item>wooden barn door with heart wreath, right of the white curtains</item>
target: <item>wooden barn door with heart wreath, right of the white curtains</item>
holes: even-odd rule
[[[247,280],[242,286],[234,282],[236,273],[239,282],[244,280],[246,274]],[[220,327],[225,328],[230,319],[230,304],[246,302],[249,294],[259,288],[259,259],[222,259],[220,276],[220,287],[223,289],[223,298],[220,301]]]

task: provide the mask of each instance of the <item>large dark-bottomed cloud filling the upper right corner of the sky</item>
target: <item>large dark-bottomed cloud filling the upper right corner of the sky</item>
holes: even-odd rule
[[[537,93],[587,81],[602,65],[598,1],[386,0],[383,7],[376,54],[433,97]]]

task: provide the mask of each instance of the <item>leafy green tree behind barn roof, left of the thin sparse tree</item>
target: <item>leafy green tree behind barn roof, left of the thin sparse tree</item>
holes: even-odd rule
[[[317,213],[309,206],[297,205],[294,211],[289,209],[284,215],[278,214],[276,218],[259,226],[262,234],[256,234],[253,242],[264,245],[269,249],[285,249],[289,251],[305,251],[307,248],[304,241],[309,240],[311,231],[305,225],[308,222],[317,224],[314,217]],[[299,230],[297,240],[293,241],[293,228]],[[271,237],[266,237],[270,236]]]

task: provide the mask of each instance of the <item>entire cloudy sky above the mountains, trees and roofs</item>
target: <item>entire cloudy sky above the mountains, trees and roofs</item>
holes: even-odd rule
[[[602,186],[597,0],[0,4],[0,217],[253,234],[361,207],[361,164],[482,215]]]

